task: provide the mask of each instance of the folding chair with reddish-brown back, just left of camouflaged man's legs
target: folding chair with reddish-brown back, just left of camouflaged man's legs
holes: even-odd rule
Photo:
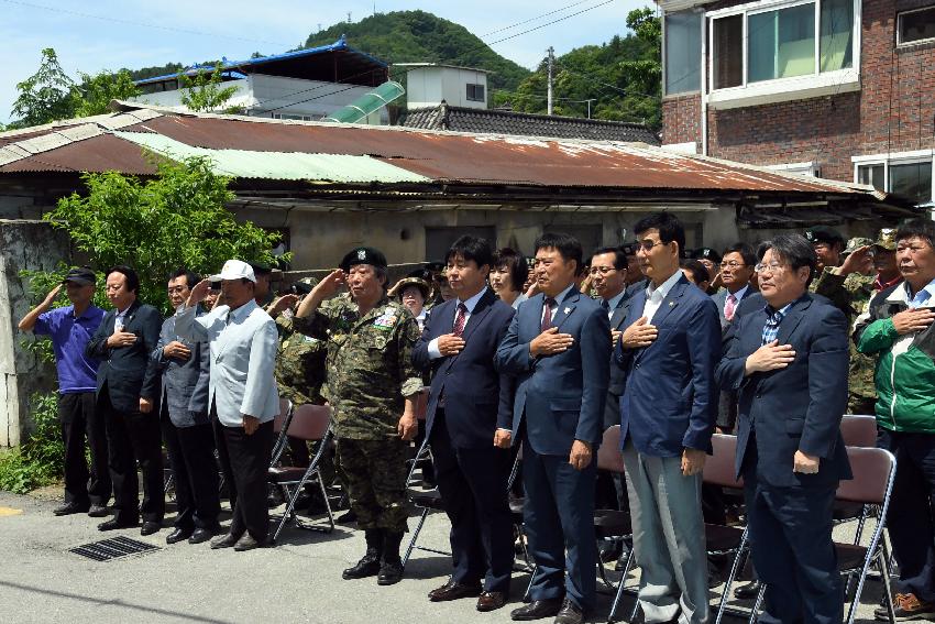
[[[286,511],[279,518],[276,532],[273,534],[272,541],[276,541],[276,538],[279,537],[279,533],[289,519],[294,521],[298,528],[305,528],[308,530],[331,533],[334,529],[334,516],[331,513],[331,503],[328,500],[328,492],[324,490],[324,482],[321,479],[321,470],[319,468],[321,458],[328,449],[328,446],[331,444],[332,434],[329,427],[330,424],[331,408],[329,406],[299,405],[295,410],[293,410],[288,425],[283,428],[285,435],[280,437],[284,439],[287,435],[305,440],[306,442],[318,441],[320,444],[318,445],[318,451],[315,453],[315,457],[311,458],[308,467],[273,466],[270,468],[270,483],[280,488],[283,490],[283,497],[288,501]],[[321,497],[324,500],[324,507],[328,511],[327,526],[302,523],[295,513],[296,500],[298,500],[305,484],[312,480],[318,483],[318,488],[321,491]],[[290,488],[295,488],[295,490],[290,492]]]

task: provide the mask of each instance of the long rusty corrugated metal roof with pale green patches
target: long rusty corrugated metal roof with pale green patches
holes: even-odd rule
[[[283,122],[118,103],[123,112],[94,120],[100,134],[75,128],[67,136],[70,142],[62,144],[61,128],[48,128],[45,133],[8,143],[0,149],[0,173],[116,169],[152,174],[155,167],[140,154],[140,145],[157,152],[174,145],[185,153],[223,158],[227,171],[238,177],[330,180],[336,187],[416,182],[435,185],[435,189],[443,184],[483,184],[530,190],[740,191],[883,200],[866,187],[676,154],[642,143]],[[70,125],[79,127],[79,122]],[[111,130],[114,127],[122,131]],[[33,153],[38,146],[45,151]]]

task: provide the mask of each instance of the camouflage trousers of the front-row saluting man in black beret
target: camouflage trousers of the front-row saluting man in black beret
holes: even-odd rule
[[[338,457],[360,528],[406,530],[407,452],[408,444],[399,439],[338,440]]]

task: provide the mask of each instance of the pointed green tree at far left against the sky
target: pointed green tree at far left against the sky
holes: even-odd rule
[[[72,117],[74,84],[62,69],[55,50],[44,48],[38,70],[16,84],[20,95],[13,102],[13,114],[19,119],[14,125],[26,128]]]

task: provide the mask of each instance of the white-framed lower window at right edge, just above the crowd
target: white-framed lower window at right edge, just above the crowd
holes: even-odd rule
[[[875,188],[927,204],[935,199],[931,150],[876,156],[855,156],[855,179]]]

